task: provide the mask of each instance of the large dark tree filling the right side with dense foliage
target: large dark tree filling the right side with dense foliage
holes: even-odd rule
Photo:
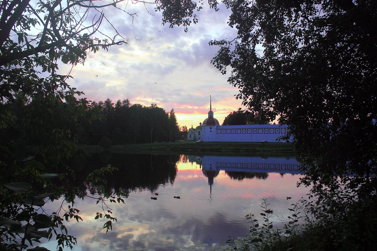
[[[355,236],[371,246],[377,224],[366,205],[377,201],[377,26],[371,25],[377,2],[223,2],[238,35],[210,42],[221,47],[212,63],[222,73],[231,68],[228,82],[240,89],[243,105],[289,126],[307,174],[301,183],[313,184],[317,216],[337,222],[339,250],[359,249],[342,243]]]

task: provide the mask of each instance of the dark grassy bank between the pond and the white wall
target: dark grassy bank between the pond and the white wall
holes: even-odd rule
[[[87,146],[89,152],[101,150],[100,146]],[[111,152],[239,152],[239,153],[262,153],[262,152],[282,152],[293,153],[292,143],[267,143],[260,142],[187,142],[179,141],[175,143],[147,143],[147,144],[129,144],[114,145],[109,148]]]

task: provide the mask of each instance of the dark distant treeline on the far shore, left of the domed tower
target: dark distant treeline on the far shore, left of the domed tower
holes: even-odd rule
[[[75,137],[86,145],[169,142],[181,139],[174,109],[166,112],[152,103],[150,106],[131,104],[128,99],[113,103],[92,102],[91,110],[100,119],[83,122]],[[109,139],[109,140],[107,140]]]

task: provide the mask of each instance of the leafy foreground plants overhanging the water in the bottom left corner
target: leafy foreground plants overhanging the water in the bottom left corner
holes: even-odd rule
[[[103,176],[111,173],[116,168],[106,166],[90,173],[86,181],[80,186],[69,187],[69,180],[74,179],[74,170],[67,169],[64,173],[46,173],[44,165],[34,158],[27,158],[22,165],[13,164],[12,172],[6,169],[9,166],[0,163],[0,247],[2,250],[23,250],[35,243],[40,243],[41,238],[57,240],[57,249],[70,248],[77,243],[77,239],[69,235],[64,222],[71,219],[82,221],[80,210],[75,208],[75,199],[90,197],[86,194],[86,186],[90,183],[105,184]],[[9,183],[9,181],[12,181]],[[101,187],[99,187],[101,190]],[[104,227],[107,231],[112,229],[111,208],[106,202],[123,202],[122,193],[104,193],[97,199],[102,203],[102,211],[97,213],[95,219],[104,218]],[[91,197],[93,198],[93,197]],[[61,199],[58,208],[50,208],[49,201]],[[66,205],[68,204],[68,205]],[[47,250],[45,248],[34,248]]]

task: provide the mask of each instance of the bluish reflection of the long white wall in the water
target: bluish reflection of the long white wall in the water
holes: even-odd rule
[[[300,173],[300,166],[301,163],[299,163],[295,157],[202,157],[202,170]]]

